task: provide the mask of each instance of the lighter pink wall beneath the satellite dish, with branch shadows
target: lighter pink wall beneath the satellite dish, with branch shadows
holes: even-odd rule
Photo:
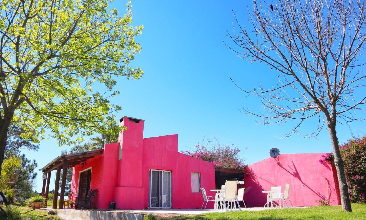
[[[332,205],[340,205],[335,167],[320,163],[321,155],[325,153],[281,154],[279,165],[273,158],[251,164],[251,175],[245,176],[246,205],[264,206],[267,196],[262,191],[282,186],[283,193],[285,183],[291,183],[289,198],[294,206],[319,205],[315,200],[321,194],[330,195]]]

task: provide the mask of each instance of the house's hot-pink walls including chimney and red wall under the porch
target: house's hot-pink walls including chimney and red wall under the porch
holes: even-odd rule
[[[88,159],[83,169],[74,167],[71,190],[75,195],[79,172],[89,167],[91,189],[98,189],[95,205],[100,209],[107,209],[109,202],[116,202],[116,209],[148,208],[150,169],[171,171],[172,208],[201,208],[202,194],[191,192],[191,172],[199,172],[201,187],[214,194],[210,192],[215,189],[214,165],[179,153],[177,134],[143,139],[143,121],[124,118],[121,124],[127,130],[120,134],[119,143],[105,145],[103,155]]]

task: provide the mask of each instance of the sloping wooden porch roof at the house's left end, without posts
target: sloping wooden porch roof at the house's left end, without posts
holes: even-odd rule
[[[86,159],[94,158],[95,155],[101,154],[103,153],[103,151],[104,148],[79,153],[60,155],[51,162],[49,162],[45,167],[41,168],[40,170],[47,173],[49,171],[56,170],[57,167],[63,168],[65,159],[67,160],[67,167],[74,167],[76,164],[86,162]]]

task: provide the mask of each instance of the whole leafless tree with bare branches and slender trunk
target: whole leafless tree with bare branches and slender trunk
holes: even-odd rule
[[[250,25],[235,16],[229,48],[244,60],[268,64],[279,73],[270,89],[257,87],[262,102],[258,113],[244,109],[272,124],[298,120],[291,133],[309,118],[316,118],[314,137],[328,128],[340,186],[342,209],[352,211],[339,151],[336,124],[339,120],[363,120],[356,111],[365,109],[365,3],[363,0],[278,0],[273,10],[265,1],[253,1]],[[239,87],[239,86],[238,86]],[[240,87],[239,87],[240,88]],[[310,120],[311,121],[311,120]]]

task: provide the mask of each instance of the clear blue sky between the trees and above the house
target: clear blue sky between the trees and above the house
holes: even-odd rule
[[[111,6],[124,13],[125,4],[118,0]],[[248,164],[267,158],[272,147],[281,153],[332,151],[325,129],[318,139],[296,135],[279,139],[291,130],[291,121],[261,125],[252,115],[240,112],[243,107],[259,110],[261,105],[255,96],[236,88],[229,77],[249,90],[259,84],[277,83],[276,73],[268,66],[241,60],[223,43],[228,40],[226,30],[232,28],[232,10],[247,24],[251,1],[135,0],[132,5],[133,24],[144,25],[143,34],[136,39],[142,51],[132,66],[142,68],[145,74],[139,80],[118,79],[116,89],[121,94],[111,99],[122,107],[117,118],[127,115],[146,120],[144,137],[178,134],[180,151],[205,136],[216,137],[221,144],[232,143],[242,149],[241,156]],[[351,137],[346,124],[337,126],[340,142]],[[364,126],[364,122],[350,124],[355,134]],[[304,130],[312,128],[311,122],[303,124]],[[49,139],[41,142],[38,152],[23,152],[27,158],[36,159],[41,168],[69,148]],[[37,191],[42,189],[41,175],[38,172]]]

